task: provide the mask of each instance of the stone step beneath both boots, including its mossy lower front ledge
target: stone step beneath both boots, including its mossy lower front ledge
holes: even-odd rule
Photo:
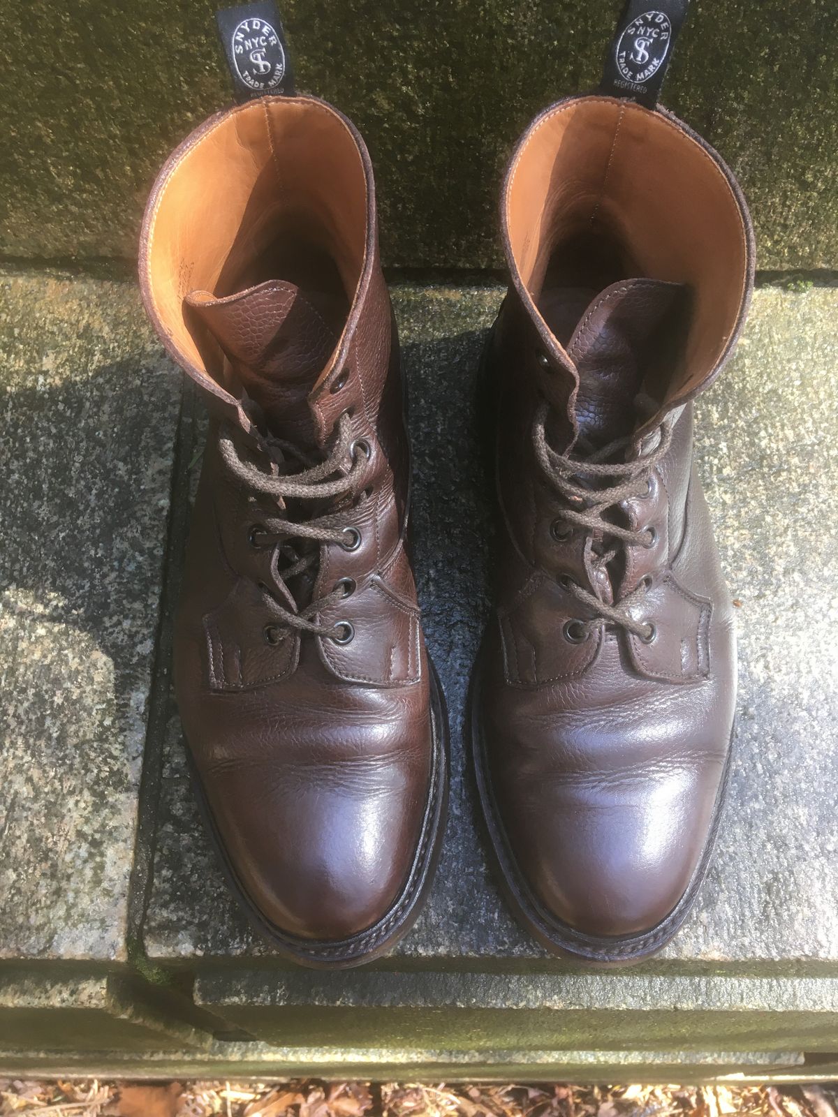
[[[491,1058],[507,1068],[552,1059],[569,1077],[579,1049],[597,1048],[607,1067],[612,1049],[640,1047],[665,1060],[673,1046],[721,1046],[740,1050],[740,1071],[749,1052],[778,1060],[793,1052],[803,1076],[838,1049],[838,672],[830,636],[838,452],[829,435],[838,426],[838,290],[758,292],[735,362],[701,401],[701,468],[740,607],[731,794],[694,917],[659,957],[604,975],[572,973],[511,919],[487,871],[464,760],[489,561],[473,397],[501,295],[394,292],[411,391],[417,574],[454,742],[451,814],[427,909],[375,970],[291,972],[225,890],[173,715],[146,951],[163,968],[197,974],[203,1009],[280,1049],[363,1044],[410,1051],[429,1068],[428,1048],[441,1044],[477,1052],[480,1067]],[[482,1060],[482,1050],[494,1054]]]

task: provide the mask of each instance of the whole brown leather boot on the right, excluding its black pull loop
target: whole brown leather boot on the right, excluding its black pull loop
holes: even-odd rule
[[[729,767],[733,610],[692,401],[742,327],[751,227],[686,125],[601,95],[532,123],[502,226],[479,791],[523,924],[556,953],[631,962],[688,913]]]

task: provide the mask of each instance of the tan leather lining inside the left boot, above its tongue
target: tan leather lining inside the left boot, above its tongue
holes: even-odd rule
[[[184,296],[231,294],[284,230],[328,248],[352,299],[365,264],[366,211],[355,136],[322,102],[263,98],[194,133],[156,183],[144,260],[151,309],[182,363],[207,371]]]

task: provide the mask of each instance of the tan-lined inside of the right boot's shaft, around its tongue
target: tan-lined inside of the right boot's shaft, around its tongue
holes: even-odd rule
[[[751,221],[720,155],[672,114],[604,96],[552,105],[513,154],[501,227],[511,300],[531,352],[558,374],[551,394],[574,432],[579,374],[545,321],[551,288],[602,292],[635,276],[685,288],[683,337],[659,370],[663,382],[649,385],[658,407],[639,433],[726,363],[753,289]]]

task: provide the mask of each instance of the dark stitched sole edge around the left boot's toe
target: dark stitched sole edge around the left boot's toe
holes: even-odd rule
[[[422,829],[410,873],[389,910],[365,930],[349,938],[317,941],[291,935],[275,926],[254,903],[235,866],[212,817],[198,770],[187,746],[192,785],[210,841],[216,850],[229,890],[254,929],[283,957],[314,970],[345,970],[372,962],[390,951],[416,923],[422,908],[445,833],[448,812],[448,713],[436,668],[428,657],[430,672],[430,719],[434,753],[430,790]]]

